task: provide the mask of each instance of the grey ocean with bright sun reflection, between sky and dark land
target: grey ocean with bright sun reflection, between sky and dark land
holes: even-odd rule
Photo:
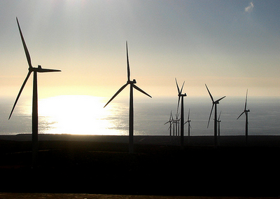
[[[105,108],[109,97],[62,95],[39,99],[41,134],[128,135],[128,96],[118,96]],[[22,97],[8,120],[14,98],[0,98],[0,135],[31,133],[31,99]],[[134,135],[169,135],[170,112],[175,117],[178,97],[134,97]],[[218,104],[221,111],[221,135],[244,135],[245,97],[225,97]],[[214,113],[209,97],[185,97],[185,121],[190,109],[190,135],[214,135]],[[248,96],[248,135],[280,135],[280,98]],[[188,135],[188,125],[185,125]]]

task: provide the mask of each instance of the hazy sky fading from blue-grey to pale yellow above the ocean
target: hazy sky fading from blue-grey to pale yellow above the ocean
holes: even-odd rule
[[[280,96],[280,1],[0,1],[0,95],[14,96],[28,72],[15,18],[39,96],[111,97],[132,78],[153,97]],[[31,95],[32,76],[22,95]],[[127,95],[128,90],[122,94]],[[136,91],[137,93],[137,91]]]

